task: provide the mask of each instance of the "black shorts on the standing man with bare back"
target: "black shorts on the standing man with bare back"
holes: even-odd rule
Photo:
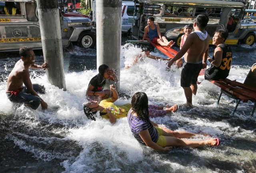
[[[190,87],[191,84],[196,84],[198,75],[202,67],[203,67],[202,62],[198,64],[184,62],[183,69],[180,75],[180,86]]]

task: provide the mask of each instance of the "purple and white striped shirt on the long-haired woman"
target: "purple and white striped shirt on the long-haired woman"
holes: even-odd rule
[[[137,141],[146,145],[144,141],[141,139],[139,133],[144,130],[148,130],[152,141],[156,142],[158,140],[159,135],[158,135],[158,131],[154,128],[152,123],[146,121],[141,117],[133,116],[131,112],[132,112],[132,109],[129,110],[127,118],[128,118],[130,129],[132,131],[132,135],[137,139]]]

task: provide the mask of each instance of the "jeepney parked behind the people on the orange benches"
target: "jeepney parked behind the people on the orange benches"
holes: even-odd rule
[[[140,9],[134,12],[131,28],[132,37],[136,40],[143,37],[147,18],[154,16],[154,22],[159,24],[162,35],[174,40],[179,47],[184,34],[183,27],[193,24],[198,14],[208,15],[206,31],[211,38],[216,30],[228,29],[226,44],[252,46],[256,40],[256,24],[241,23],[246,8],[246,2],[242,0],[136,0],[134,3]],[[167,11],[172,16],[167,16]],[[230,17],[233,18],[232,26],[228,25]]]

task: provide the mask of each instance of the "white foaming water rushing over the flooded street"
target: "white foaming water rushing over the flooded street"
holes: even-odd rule
[[[256,45],[232,46],[233,62],[229,79],[244,82],[256,62]],[[178,50],[178,49],[177,49]],[[212,56],[214,48],[210,48]],[[128,70],[132,57],[141,49],[122,46],[120,89],[126,97],[116,104],[129,103],[137,91],[144,91],[150,103],[185,103],[180,87],[181,69],[166,70],[166,62],[145,59]],[[158,51],[156,56],[164,55]],[[36,51],[36,63],[42,64],[42,52]],[[43,71],[32,70],[32,83],[46,87],[41,97],[48,109],[32,110],[13,105],[6,97],[6,79],[17,54],[0,53],[0,172],[3,173],[254,173],[256,172],[256,118],[250,116],[251,102],[230,113],[235,102],[222,96],[220,88],[208,81],[198,85],[194,107],[152,118],[172,130],[206,132],[220,138],[218,147],[196,149],[176,147],[170,152],[154,151],[140,145],[132,136],[126,118],[112,125],[98,115],[88,120],[82,104],[90,79],[96,70],[96,50],[64,52],[66,88],[63,91],[47,82]],[[128,95],[128,96],[127,96]],[[249,106],[248,106],[249,105]],[[196,140],[205,139],[202,136]]]

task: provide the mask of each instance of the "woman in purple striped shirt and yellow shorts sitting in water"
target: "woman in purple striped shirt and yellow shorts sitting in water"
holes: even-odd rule
[[[159,151],[170,151],[172,147],[200,147],[204,145],[218,146],[218,138],[211,138],[204,141],[192,141],[180,138],[191,138],[194,133],[186,131],[172,131],[159,127],[158,124],[150,121],[148,110],[148,97],[144,92],[137,92],[132,97],[132,108],[128,112],[128,123],[134,137],[140,143]]]

